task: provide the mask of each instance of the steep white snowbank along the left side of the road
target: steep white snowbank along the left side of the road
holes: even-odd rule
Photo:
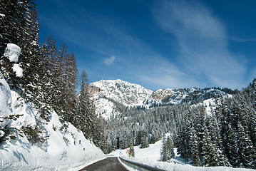
[[[16,137],[0,144],[0,170],[78,170],[88,162],[105,157],[70,123],[66,130],[61,129],[63,125],[55,112],[51,112],[48,122],[38,123],[38,111],[26,104],[19,93],[10,90],[4,78],[0,77],[1,120],[11,114],[23,114],[17,120],[0,122],[1,128],[7,125]],[[19,131],[22,127],[37,124],[43,125],[42,135],[48,136],[43,145],[32,145]]]

